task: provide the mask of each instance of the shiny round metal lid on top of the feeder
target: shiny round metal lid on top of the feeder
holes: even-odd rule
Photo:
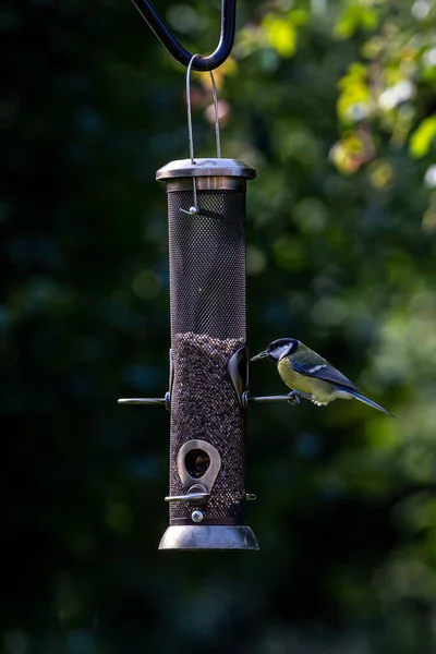
[[[196,158],[195,164],[191,164],[191,159],[170,161],[156,172],[157,180],[191,177],[239,177],[253,180],[257,177],[257,170],[239,159]]]

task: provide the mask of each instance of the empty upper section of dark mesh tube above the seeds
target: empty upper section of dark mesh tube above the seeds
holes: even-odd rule
[[[245,192],[168,194],[171,330],[245,338]]]

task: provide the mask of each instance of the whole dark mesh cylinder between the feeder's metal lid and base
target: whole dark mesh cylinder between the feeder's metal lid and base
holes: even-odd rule
[[[168,193],[170,239],[171,396],[170,494],[186,493],[177,470],[180,447],[192,439],[219,451],[221,469],[202,524],[245,521],[245,412],[228,373],[245,344],[245,192]],[[198,480],[201,483],[201,479]],[[192,524],[195,507],[170,505],[171,524]]]

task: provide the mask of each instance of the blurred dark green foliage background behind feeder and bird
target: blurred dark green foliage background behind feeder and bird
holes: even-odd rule
[[[219,3],[159,2],[209,52]],[[436,650],[434,0],[238,1],[216,73],[250,183],[249,344],[301,338],[358,402],[250,412],[259,554],[158,553],[166,197],[185,70],[125,0],[0,10],[4,654]],[[214,153],[194,75],[196,153]],[[256,393],[283,390],[253,366]]]

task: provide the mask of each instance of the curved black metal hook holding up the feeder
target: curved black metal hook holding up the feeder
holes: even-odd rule
[[[149,0],[132,0],[143,19],[156,34],[160,43],[167,48],[174,59],[187,66],[192,55],[177,40],[172,32],[157,13]],[[195,71],[213,71],[229,57],[234,40],[234,24],[237,15],[237,0],[221,1],[221,34],[215,52],[208,57],[197,57],[192,64]]]

